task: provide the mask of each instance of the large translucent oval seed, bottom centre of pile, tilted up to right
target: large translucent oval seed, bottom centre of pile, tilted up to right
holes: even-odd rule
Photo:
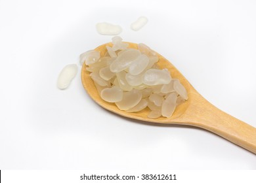
[[[124,92],[123,99],[117,102],[116,105],[120,110],[129,110],[140,102],[141,97],[141,92],[139,90],[133,89],[129,92]]]

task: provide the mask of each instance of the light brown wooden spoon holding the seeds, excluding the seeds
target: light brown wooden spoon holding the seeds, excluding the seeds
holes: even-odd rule
[[[112,43],[98,46],[98,48],[95,48],[95,50],[99,51],[101,56],[104,56],[104,54],[107,52],[106,46],[112,46]],[[129,42],[129,48],[138,49],[138,46],[135,43]],[[255,127],[245,124],[241,120],[238,120],[213,106],[206,99],[204,99],[200,93],[196,92],[188,80],[186,80],[186,78],[184,78],[184,76],[182,76],[181,73],[167,59],[163,58],[163,56],[160,54],[158,54],[158,57],[158,66],[161,69],[167,68],[171,72],[172,77],[178,78],[188,92],[188,100],[179,105],[170,118],[160,117],[150,119],[147,117],[148,112],[150,111],[148,108],[145,108],[140,112],[129,113],[119,110],[114,103],[108,103],[102,100],[100,95],[98,95],[93,80],[89,76],[89,72],[86,70],[85,63],[81,69],[81,80],[83,87],[89,93],[91,98],[98,103],[98,105],[121,116],[160,124],[180,124],[201,127],[216,133],[228,141],[238,144],[238,146],[242,146],[243,148],[256,154]]]

